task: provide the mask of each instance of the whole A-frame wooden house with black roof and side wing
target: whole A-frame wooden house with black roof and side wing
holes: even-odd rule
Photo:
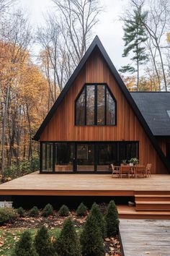
[[[130,93],[96,36],[33,139],[40,173],[107,174],[138,158],[167,174],[170,93]]]

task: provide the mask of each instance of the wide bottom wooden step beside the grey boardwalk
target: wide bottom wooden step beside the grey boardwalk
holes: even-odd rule
[[[131,218],[131,219],[170,219],[170,210],[135,210],[135,207],[128,205],[118,205],[117,210],[119,218]]]

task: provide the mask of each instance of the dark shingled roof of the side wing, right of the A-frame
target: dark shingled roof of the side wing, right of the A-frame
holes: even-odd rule
[[[170,92],[131,92],[153,135],[170,136]]]

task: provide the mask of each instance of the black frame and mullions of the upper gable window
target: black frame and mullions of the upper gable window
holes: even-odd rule
[[[86,87],[88,85],[94,85],[94,124],[86,124]],[[97,123],[97,85],[104,85],[104,124],[98,124]],[[79,97],[81,96],[81,93],[83,93],[83,90],[85,90],[85,114],[84,114],[84,124],[77,124],[77,117],[76,117],[76,102],[79,100]],[[115,124],[107,124],[107,90],[109,91],[109,94],[111,95],[112,99],[115,101]],[[89,82],[85,83],[83,88],[81,88],[81,91],[77,95],[75,101],[74,101],[74,125],[77,127],[115,127],[117,125],[117,101],[115,99],[115,96],[112,94],[111,90],[109,89],[109,86],[107,83],[104,82]]]

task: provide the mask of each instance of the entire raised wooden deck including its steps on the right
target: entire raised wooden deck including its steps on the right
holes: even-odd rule
[[[0,184],[1,195],[126,196],[135,207],[118,205],[120,218],[170,219],[170,175],[119,179],[110,174],[28,174]]]

